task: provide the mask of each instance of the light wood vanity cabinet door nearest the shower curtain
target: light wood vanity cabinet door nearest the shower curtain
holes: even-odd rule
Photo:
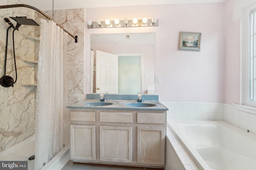
[[[95,125],[70,125],[70,156],[96,160]]]

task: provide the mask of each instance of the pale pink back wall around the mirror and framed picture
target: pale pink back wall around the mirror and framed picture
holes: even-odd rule
[[[85,74],[90,73],[90,34],[155,32],[155,74],[161,74],[162,78],[161,83],[155,83],[155,93],[160,101],[224,102],[224,8],[224,3],[88,8],[86,21],[146,16],[158,18],[159,24],[158,27],[86,28]],[[178,51],[180,31],[201,32],[201,51]],[[85,88],[89,93],[90,83]]]

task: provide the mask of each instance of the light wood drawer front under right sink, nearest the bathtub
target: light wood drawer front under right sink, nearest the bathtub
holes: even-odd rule
[[[137,123],[164,124],[164,113],[137,113]]]

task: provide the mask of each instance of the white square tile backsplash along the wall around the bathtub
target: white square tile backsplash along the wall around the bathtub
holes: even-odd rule
[[[256,135],[256,114],[236,105],[202,102],[161,102],[168,107],[167,119],[225,121]]]

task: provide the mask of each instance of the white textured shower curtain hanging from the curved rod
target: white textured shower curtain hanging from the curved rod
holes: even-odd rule
[[[63,29],[41,19],[36,91],[35,170],[63,149]]]

